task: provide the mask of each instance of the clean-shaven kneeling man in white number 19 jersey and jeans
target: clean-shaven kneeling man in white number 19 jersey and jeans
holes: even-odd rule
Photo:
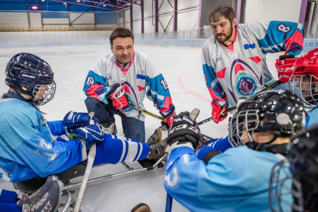
[[[124,135],[145,142],[145,114],[128,106],[144,108],[145,96],[159,109],[170,126],[176,116],[169,88],[148,55],[134,51],[134,35],[126,28],[109,37],[112,53],[92,66],[84,83],[85,105],[95,112],[104,132],[115,135],[114,114],[122,120]]]

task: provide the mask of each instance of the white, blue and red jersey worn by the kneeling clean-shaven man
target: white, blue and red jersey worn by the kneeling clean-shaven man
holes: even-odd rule
[[[123,86],[130,104],[145,109],[143,101],[147,95],[163,114],[171,111],[173,105],[167,83],[148,55],[135,51],[126,74],[115,61],[112,53],[98,58],[85,80],[83,91],[86,96],[108,105],[111,100],[107,99],[106,95],[113,85],[119,83]],[[121,109],[121,112],[128,117],[145,120],[145,114],[132,107],[127,106]]]

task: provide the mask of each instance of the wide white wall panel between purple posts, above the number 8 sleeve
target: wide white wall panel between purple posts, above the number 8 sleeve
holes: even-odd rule
[[[284,20],[298,22],[302,0],[246,0],[245,23]]]

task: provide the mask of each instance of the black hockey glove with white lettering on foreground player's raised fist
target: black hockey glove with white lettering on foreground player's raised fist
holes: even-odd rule
[[[181,112],[174,119],[169,132],[167,143],[172,145],[179,141],[178,144],[191,142],[193,148],[196,148],[200,140],[200,129],[196,121],[189,118],[189,112]]]

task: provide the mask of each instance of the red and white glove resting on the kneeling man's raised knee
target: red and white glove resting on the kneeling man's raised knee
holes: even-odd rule
[[[113,101],[113,106],[115,109],[122,109],[125,106],[128,106],[127,98],[125,97],[125,90],[119,83],[113,85],[110,91],[106,95],[106,98]]]

